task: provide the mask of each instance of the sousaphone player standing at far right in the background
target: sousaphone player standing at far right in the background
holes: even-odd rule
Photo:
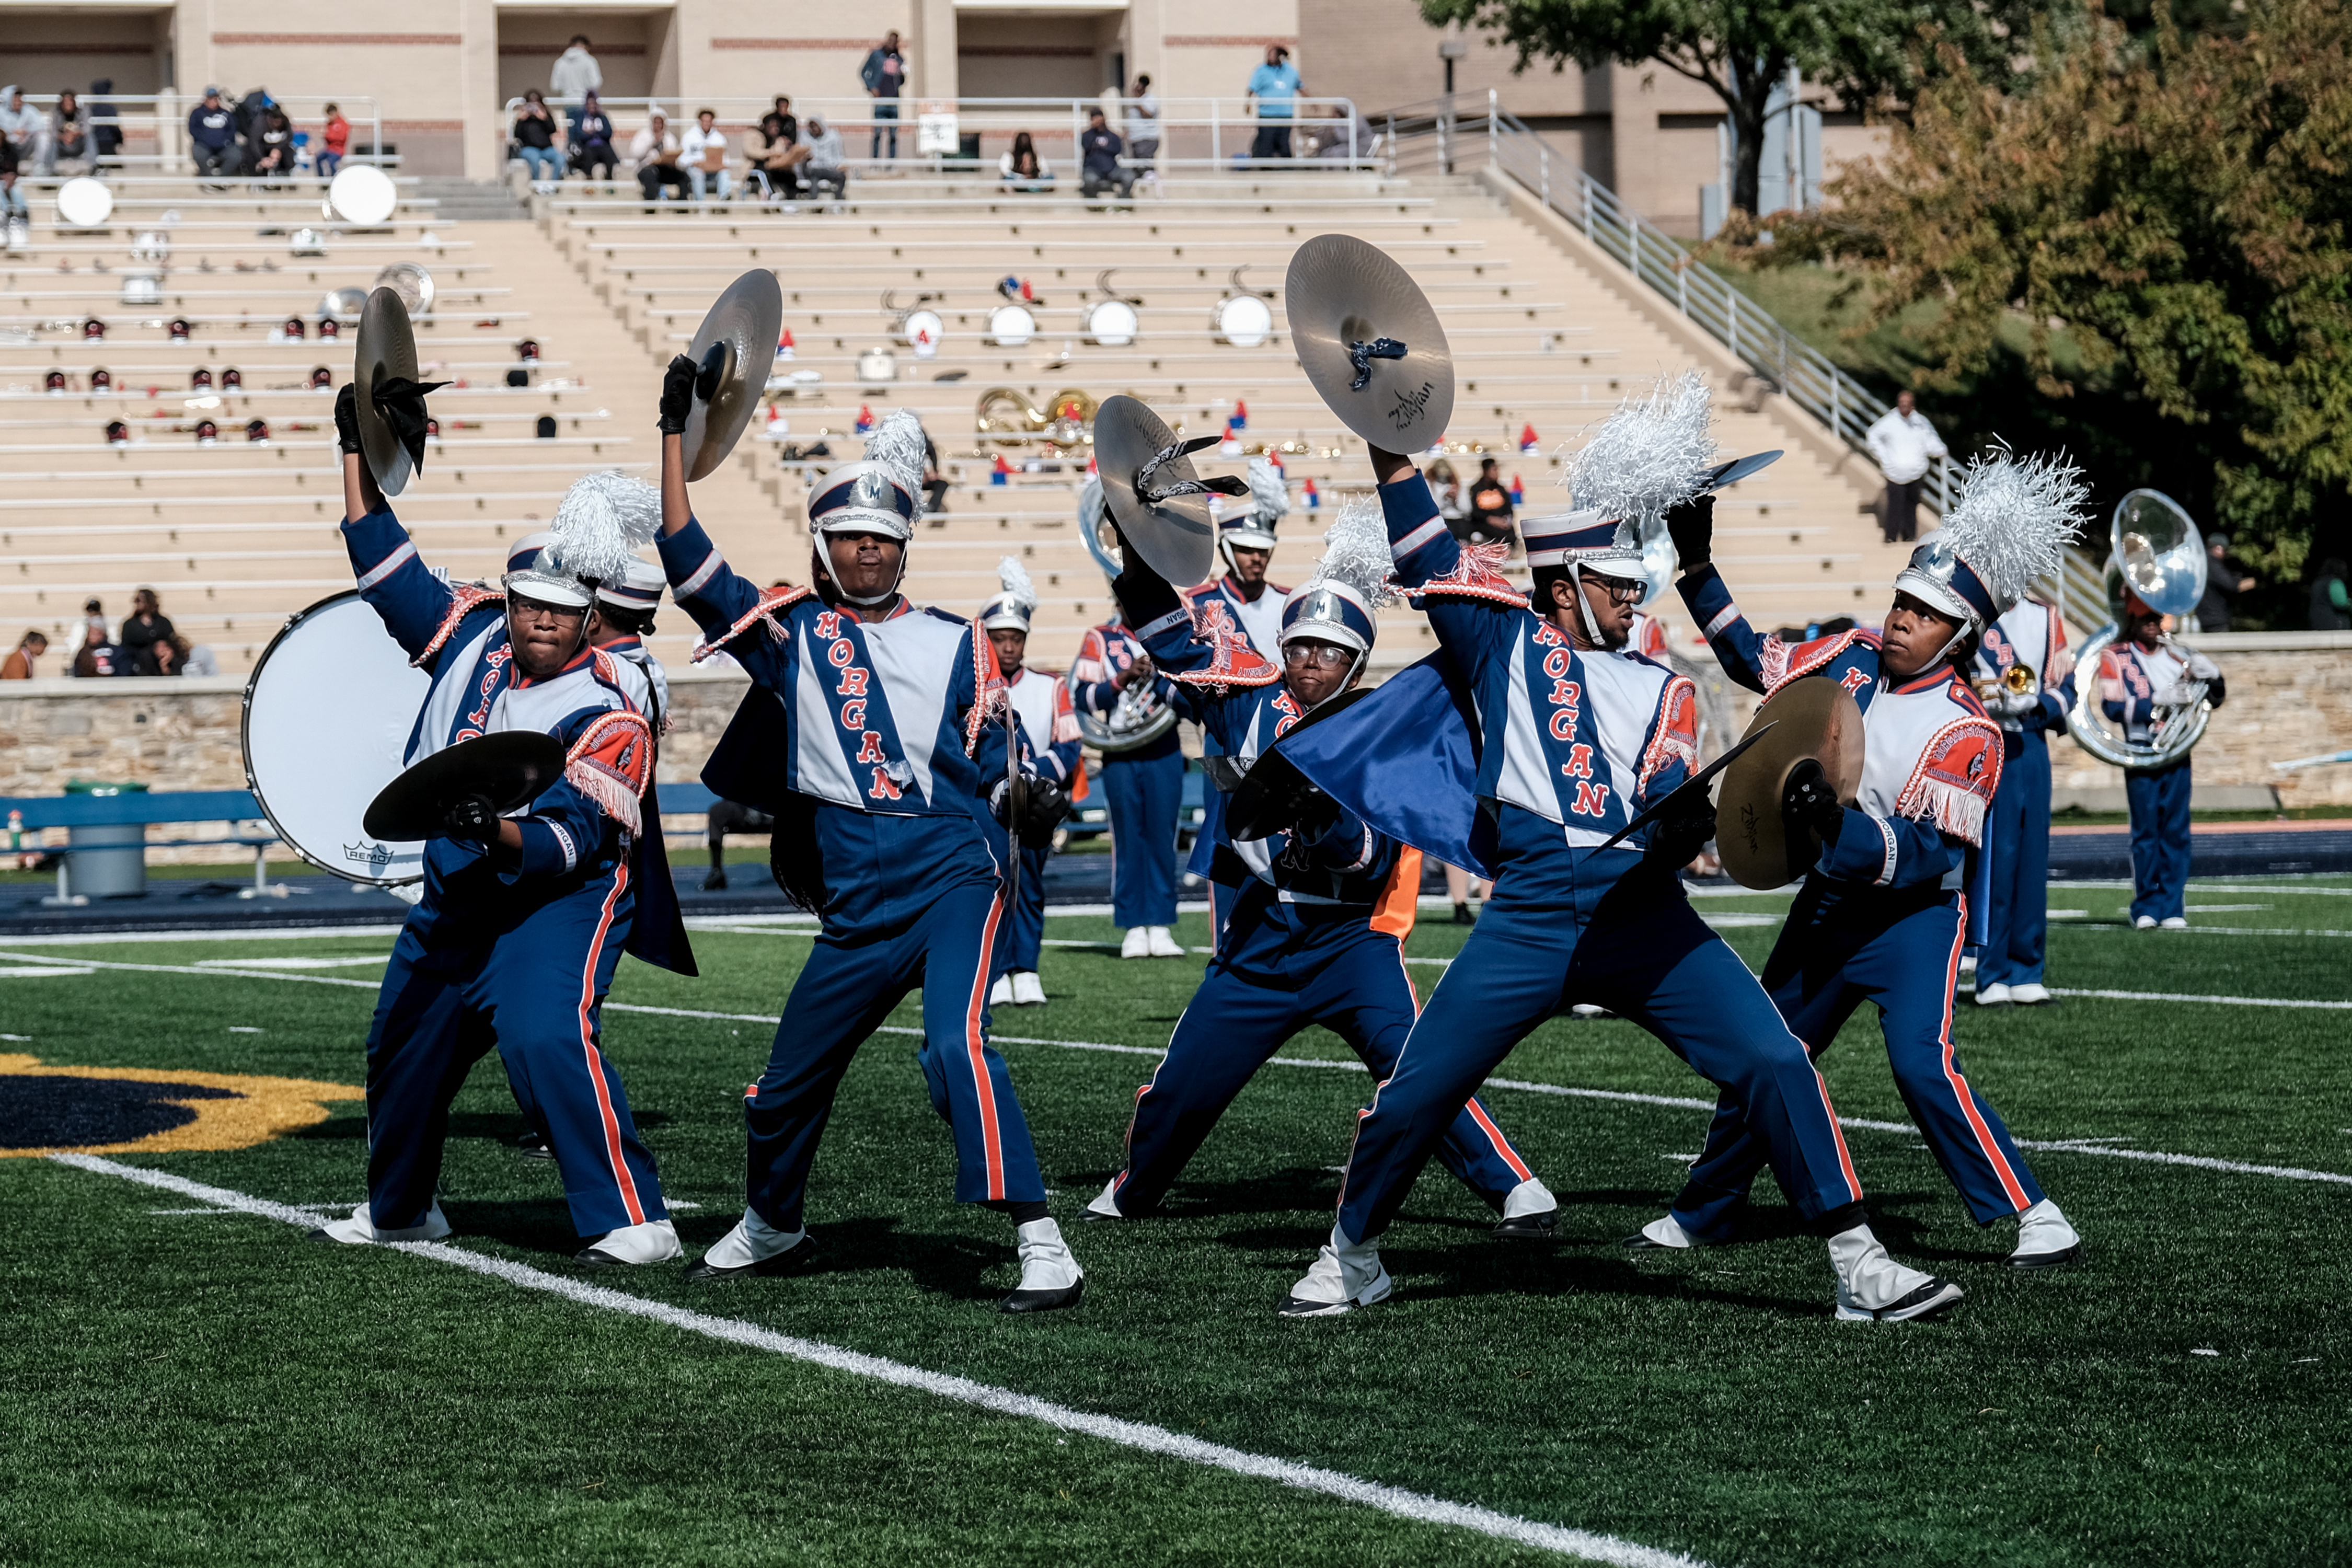
[[[2220,665],[2166,637],[2164,614],[2126,592],[2124,635],[2098,654],[2098,703],[2107,719],[2136,745],[2147,745],[2164,733],[2157,710],[2190,705],[2197,682],[2204,682],[2204,701],[2220,708],[2227,696]],[[2131,924],[2187,931],[2187,755],[2161,769],[2126,769],[2124,804],[2131,806]]]

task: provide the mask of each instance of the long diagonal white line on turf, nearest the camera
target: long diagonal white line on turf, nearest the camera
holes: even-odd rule
[[[75,1166],[80,1171],[92,1171],[96,1175],[118,1175],[122,1180],[143,1182],[148,1187],[162,1187],[165,1192],[179,1192],[183,1197],[202,1199],[221,1208],[235,1208],[240,1213],[259,1215],[266,1220],[280,1220],[285,1225],[301,1225],[310,1229],[318,1220],[287,1204],[273,1204],[268,1199],[256,1199],[245,1192],[230,1192],[226,1187],[207,1187],[205,1182],[191,1182],[181,1175],[167,1171],[146,1171],[139,1166],[120,1166],[111,1159],[99,1159],[96,1154],[52,1154],[56,1164]],[[1562,1556],[1581,1556],[1595,1563],[1621,1563],[1623,1568],[1705,1568],[1698,1559],[1684,1556],[1682,1552],[1663,1552],[1658,1547],[1644,1547],[1639,1542],[1621,1540],[1616,1535],[1595,1535],[1592,1530],[1571,1530],[1555,1523],[1536,1523],[1531,1519],[1519,1519],[1517,1514],[1498,1514],[1494,1509],[1482,1509],[1470,1502],[1446,1502],[1444,1497],[1430,1497],[1428,1493],[1409,1493],[1399,1486],[1381,1486],[1376,1481],[1364,1481],[1336,1469],[1322,1469],[1315,1465],[1298,1465],[1296,1460],[1277,1460],[1263,1453],[1247,1453],[1242,1448],[1228,1448],[1223,1443],[1207,1443],[1197,1436],[1185,1436],[1181,1432],[1169,1432],[1167,1427],[1152,1427],[1145,1422],[1120,1420],[1115,1415],[1094,1415],[1089,1410],[1073,1410],[1070,1406],[1058,1406],[1030,1394],[1016,1394],[1014,1389],[1000,1389],[985,1382],[974,1382],[971,1378],[953,1378],[948,1373],[934,1373],[920,1366],[908,1366],[906,1361],[889,1361],[884,1356],[868,1356],[863,1352],[842,1349],[837,1345],[826,1345],[821,1340],[802,1340],[797,1335],[776,1333],[771,1328],[760,1328],[755,1324],[743,1324],[739,1319],[713,1316],[708,1312],[689,1312],[684,1307],[670,1307],[668,1302],[644,1300],[626,1291],[607,1291],[604,1286],[581,1284],[579,1279],[564,1279],[560,1274],[546,1274],[522,1262],[510,1262],[506,1258],[487,1258],[482,1253],[449,1246],[445,1241],[395,1241],[393,1251],[402,1251],[416,1258],[428,1258],[433,1262],[447,1262],[475,1274],[487,1274],[489,1279],[503,1279],[510,1286],[524,1291],[546,1291],[548,1295],[560,1295],[581,1307],[600,1307],[604,1312],[621,1312],[626,1316],[642,1316],[656,1324],[668,1324],[670,1328],[682,1328],[687,1333],[699,1333],[710,1340],[724,1340],[729,1345],[741,1345],[746,1349],[762,1349],[774,1356],[788,1356],[793,1361],[807,1361],[811,1366],[823,1366],[835,1373],[849,1373],[851,1378],[870,1378],[875,1382],[887,1382],[901,1389],[915,1389],[920,1394],[936,1394],[938,1399],[953,1399],[957,1403],[976,1406],[995,1415],[1014,1415],[1021,1420],[1047,1422],[1058,1432],[1084,1432],[1087,1436],[1103,1439],[1105,1443],[1120,1443],[1122,1448],[1138,1448],[1143,1453],[1160,1453],[1174,1460],[1185,1460],[1190,1465],[1207,1465],[1209,1469],[1223,1469],[1237,1476],[1251,1476],[1256,1481],[1279,1481],[1282,1486],[1294,1486],[1305,1493],[1322,1493],[1327,1497],[1338,1497],[1341,1502],[1355,1502],[1383,1514],[1395,1514],[1397,1519],[1414,1519],[1421,1523],[1442,1523],[1458,1530],[1475,1530],[1479,1535],[1491,1535],[1496,1540],[1512,1540],[1524,1547],[1538,1547],[1543,1552],[1559,1552]]]

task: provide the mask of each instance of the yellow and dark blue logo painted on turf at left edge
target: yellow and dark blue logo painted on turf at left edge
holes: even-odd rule
[[[350,1084],[174,1067],[49,1067],[0,1053],[0,1159],[249,1150],[327,1119]]]

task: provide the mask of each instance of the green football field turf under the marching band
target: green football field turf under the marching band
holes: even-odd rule
[[[2277,1004],[2352,999],[2352,886],[2199,882],[2185,936],[2122,929],[2126,898],[2051,891],[2051,980],[2136,994],[1999,1013],[1964,999],[1959,1018],[1964,1063],[2018,1138],[2082,1140],[2027,1159],[2086,1262],[2009,1272],[2011,1227],[1976,1229],[1917,1135],[1849,1131],[1879,1237],[1969,1291],[1910,1326],[1832,1321],[1823,1248],[1769,1182],[1743,1246],[1623,1253],[1705,1131],[1705,1110],[1639,1098],[1491,1088],[1562,1199],[1562,1239],[1491,1241],[1484,1206],[1432,1166],[1383,1244],[1395,1300],[1345,1319],[1272,1307],[1331,1225],[1371,1091],[1359,1072],[1265,1067],[1164,1218],[1077,1225],[1200,973],[1117,959],[1098,917],[1049,919],[1051,1004],[997,1018],[1089,1272],[1068,1314],[993,1309],[1016,1279],[1011,1227],[950,1201],[910,1034],[877,1034],[851,1067],[809,1194],[823,1251],[788,1279],[576,1267],[555,1171],[513,1152],[499,1067],[459,1098],[445,1208],[473,1260],[1411,1495],[1388,1509],[0,1159],[0,1563],[1562,1561],[1428,1500],[1588,1530],[1621,1561],[2347,1561],[2352,1190],[2312,1175],[2352,1175],[2352,1011]],[[1785,898],[1698,907],[1762,964]],[[1207,943],[1204,919],[1178,936]],[[1414,933],[1423,992],[1461,938]],[[367,959],[388,947],[0,938],[0,1053],[358,1084]],[[741,1208],[739,1095],[807,936],[741,922],[696,950],[701,980],[623,961],[614,1001],[670,1011],[604,1020],[663,1185],[694,1204],[694,1253]],[[894,1018],[913,1023],[913,1006]],[[1345,1048],[1310,1034],[1284,1056]],[[1875,1018],[1823,1067],[1842,1114],[1905,1119]],[[1613,1020],[1555,1020],[1501,1074],[1710,1098]],[[108,1159],[348,1208],[362,1138],[343,1100],[256,1147]]]

